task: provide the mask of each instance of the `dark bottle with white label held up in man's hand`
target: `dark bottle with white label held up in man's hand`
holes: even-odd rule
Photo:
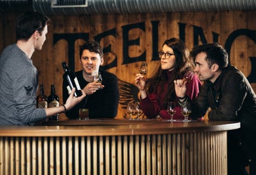
[[[68,92],[75,88],[75,97],[80,97],[82,95],[82,91],[75,73],[68,68],[66,62],[62,62],[62,66],[64,68],[63,78],[68,81],[68,86],[66,87],[68,89]]]

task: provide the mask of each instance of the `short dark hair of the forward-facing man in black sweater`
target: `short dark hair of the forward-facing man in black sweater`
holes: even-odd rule
[[[80,46],[80,59],[82,57],[82,53],[84,50],[89,50],[90,52],[98,53],[100,54],[100,58],[103,57],[103,49],[100,46],[100,44],[96,41],[87,41],[82,46]]]

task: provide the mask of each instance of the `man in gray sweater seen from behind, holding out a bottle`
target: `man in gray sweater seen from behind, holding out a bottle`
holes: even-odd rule
[[[33,125],[57,113],[71,109],[84,97],[74,91],[66,104],[48,109],[36,108],[37,68],[31,57],[41,50],[48,33],[48,17],[38,12],[25,12],[17,19],[17,43],[7,46],[0,57],[0,125]]]

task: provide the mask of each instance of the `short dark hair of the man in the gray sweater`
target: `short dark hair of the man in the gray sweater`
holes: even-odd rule
[[[39,12],[27,11],[17,18],[16,39],[28,40],[37,30],[42,34],[44,27],[48,25],[50,19]]]

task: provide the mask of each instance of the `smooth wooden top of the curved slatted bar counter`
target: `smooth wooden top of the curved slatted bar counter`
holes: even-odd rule
[[[239,129],[240,122],[167,120],[59,120],[36,126],[1,126],[0,136],[136,136],[161,133],[196,133]]]

